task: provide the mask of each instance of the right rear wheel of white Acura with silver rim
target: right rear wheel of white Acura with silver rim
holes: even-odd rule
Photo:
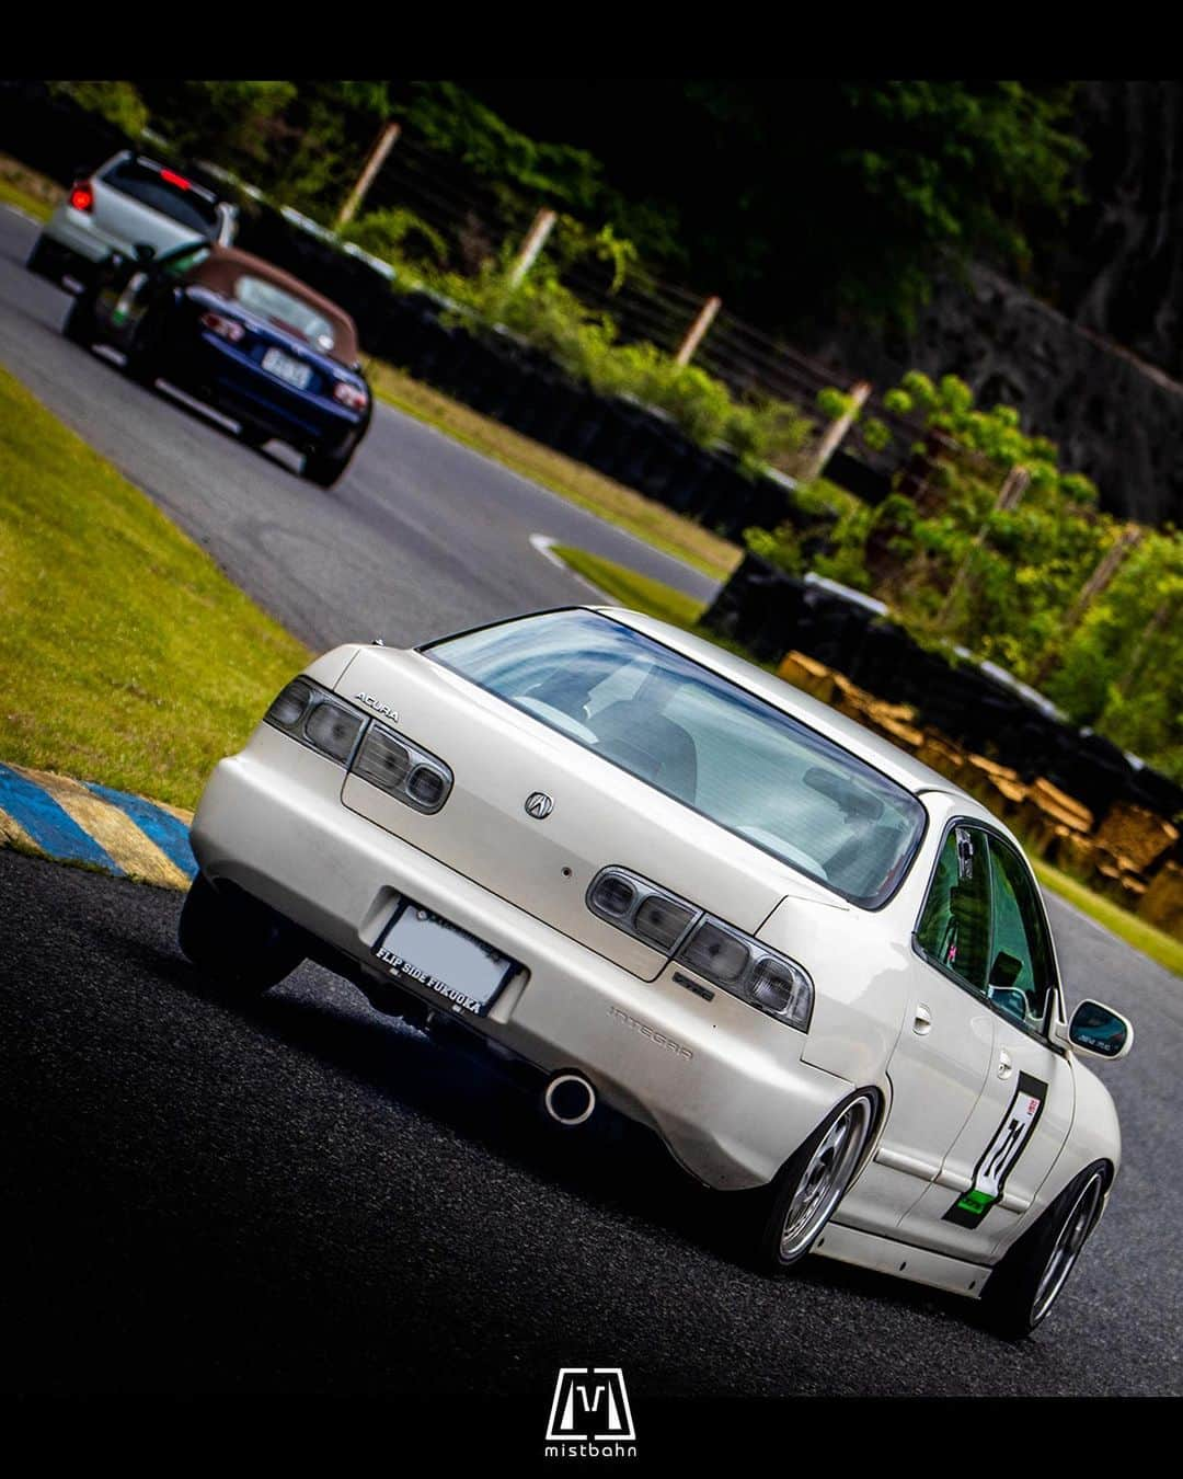
[[[862,1167],[878,1109],[874,1089],[843,1099],[765,1191],[754,1247],[762,1273],[787,1273],[822,1235]]]

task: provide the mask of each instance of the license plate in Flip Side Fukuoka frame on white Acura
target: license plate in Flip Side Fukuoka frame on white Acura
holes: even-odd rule
[[[518,969],[484,941],[410,901],[374,945],[390,975],[410,976],[454,1009],[484,1016]]]

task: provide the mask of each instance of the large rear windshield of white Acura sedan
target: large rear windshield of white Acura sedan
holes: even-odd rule
[[[920,845],[924,808],[904,787],[609,617],[547,612],[424,651],[864,908]]]

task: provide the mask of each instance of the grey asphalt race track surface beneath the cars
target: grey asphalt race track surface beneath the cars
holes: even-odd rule
[[[61,340],[31,240],[0,211],[0,361],[312,645],[583,599],[532,532],[679,569],[389,408],[337,491],[302,482]],[[179,907],[0,852],[7,1390],[504,1395],[543,1423],[560,1367],[605,1364],[642,1439],[668,1398],[1183,1393],[1180,982],[1065,905],[1069,1004],[1137,1028],[1102,1068],[1125,1162],[1020,1347],[825,1260],[748,1273],[735,1201],[648,1134],[547,1126],[316,967],[228,1003],[179,955]]]

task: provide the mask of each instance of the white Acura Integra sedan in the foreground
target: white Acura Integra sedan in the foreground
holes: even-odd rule
[[[763,670],[572,608],[313,661],[213,772],[189,958],[260,992],[311,957],[458,1022],[552,1118],[603,1099],[807,1253],[1047,1313],[1116,1114],[1040,890],[970,796]]]

